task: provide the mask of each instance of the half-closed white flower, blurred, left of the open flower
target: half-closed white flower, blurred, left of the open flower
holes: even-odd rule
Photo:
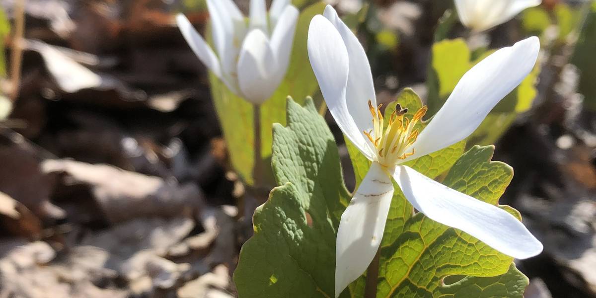
[[[290,64],[299,12],[290,0],[274,0],[267,15],[265,0],[250,2],[250,20],[232,0],[207,0],[213,44],[218,55],[179,14],[178,27],[198,58],[228,88],[261,104],[280,85]]]

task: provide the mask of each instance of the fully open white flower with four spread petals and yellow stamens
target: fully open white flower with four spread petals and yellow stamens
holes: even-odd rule
[[[343,133],[373,164],[342,215],[336,243],[336,297],[365,271],[383,237],[393,196],[392,178],[414,208],[441,224],[461,229],[518,259],[542,252],[542,244],[513,215],[427,178],[408,166],[461,141],[528,75],[538,38],[502,48],[476,64],[455,87],[424,131],[396,108],[383,119],[377,108],[367,56],[356,36],[327,6],[308,33],[308,53],[329,111]],[[406,108],[406,107],[403,107]],[[383,129],[383,122],[389,122]]]

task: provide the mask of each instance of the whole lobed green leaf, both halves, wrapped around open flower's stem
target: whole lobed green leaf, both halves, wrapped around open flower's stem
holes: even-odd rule
[[[414,95],[408,90],[399,98],[420,105]],[[291,99],[287,105],[288,126],[274,125],[272,167],[279,186],[254,213],[254,235],[241,249],[234,273],[241,298],[334,297],[336,231],[350,197],[333,135],[312,100],[304,108]],[[459,159],[445,153],[441,157],[448,162],[426,170],[412,166],[423,173],[451,167],[443,184],[496,204],[513,170],[490,162],[493,150],[475,146]],[[377,297],[522,297],[528,281],[511,257],[421,213],[413,215],[399,188],[396,193],[381,243]],[[443,285],[454,275],[467,277]],[[363,290],[359,278],[340,297],[362,297]]]

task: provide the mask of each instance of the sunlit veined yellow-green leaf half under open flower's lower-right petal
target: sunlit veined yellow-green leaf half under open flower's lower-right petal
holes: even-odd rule
[[[496,204],[511,181],[513,169],[501,162],[490,162],[494,147],[474,146],[449,170],[443,184],[487,203]],[[519,213],[504,207],[519,218]],[[392,222],[387,222],[392,224]],[[437,297],[461,288],[476,287],[490,297],[522,297],[527,279],[512,274],[501,277],[505,285],[515,284],[515,291],[499,292],[481,278],[505,274],[513,258],[505,256],[476,238],[434,222],[421,213],[406,219],[402,233],[390,246],[381,249],[377,297]],[[454,285],[443,286],[451,275],[470,275]],[[483,282],[484,281],[484,282]],[[518,286],[523,285],[523,286]],[[451,291],[450,291],[451,289]],[[507,287],[505,288],[507,289]],[[479,297],[478,291],[455,289],[457,297]],[[500,294],[499,294],[500,293]],[[449,297],[449,296],[446,296]]]

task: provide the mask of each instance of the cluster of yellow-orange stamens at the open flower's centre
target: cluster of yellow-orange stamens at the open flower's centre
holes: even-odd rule
[[[428,108],[424,105],[414,114],[412,120],[409,120],[403,117],[408,113],[408,109],[397,104],[385,127],[383,114],[380,110],[381,105],[375,108],[373,103],[368,101],[368,108],[373,115],[373,129],[368,132],[364,131],[364,135],[377,149],[377,160],[375,161],[385,167],[390,167],[397,164],[399,160],[414,154],[415,150],[411,146],[418,137],[418,129],[414,129],[414,126],[426,114]]]

